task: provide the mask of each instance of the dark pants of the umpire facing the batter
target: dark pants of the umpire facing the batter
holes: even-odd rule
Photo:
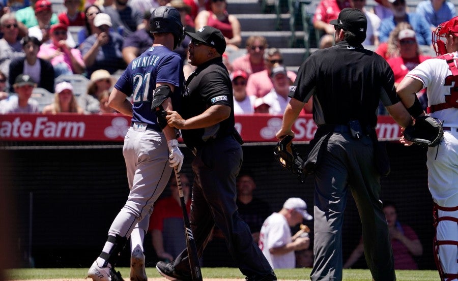
[[[237,212],[236,177],[242,160],[242,147],[233,136],[212,140],[197,150],[192,161],[194,185],[190,223],[199,257],[216,224],[240,271],[255,279],[274,273]],[[177,271],[190,272],[186,249],[177,257],[174,266]]]

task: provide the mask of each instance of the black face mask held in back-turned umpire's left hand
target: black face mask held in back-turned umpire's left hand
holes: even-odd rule
[[[274,155],[281,167],[293,174],[299,175],[299,177],[301,176],[304,161],[296,152],[296,148],[293,144],[293,136],[285,136],[282,138],[277,143],[277,146],[275,146]]]

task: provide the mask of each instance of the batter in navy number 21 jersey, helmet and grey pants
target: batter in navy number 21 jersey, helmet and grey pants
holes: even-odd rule
[[[153,203],[170,178],[170,167],[179,171],[183,164],[175,130],[167,126],[163,114],[176,108],[184,86],[182,60],[172,51],[184,37],[178,10],[169,6],[155,9],[150,18],[150,32],[154,44],[131,61],[109,97],[112,108],[132,116],[123,147],[130,193],[108,230],[102,253],[88,271],[94,281],[111,281],[110,270],[114,271],[129,236],[130,279],[147,281],[143,239]],[[130,96],[133,105],[126,99]]]

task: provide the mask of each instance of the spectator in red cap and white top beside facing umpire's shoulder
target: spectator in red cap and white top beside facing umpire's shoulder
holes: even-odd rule
[[[231,73],[232,91],[234,96],[234,114],[254,113],[254,100],[256,97],[246,94],[246,79],[248,75],[243,70]]]

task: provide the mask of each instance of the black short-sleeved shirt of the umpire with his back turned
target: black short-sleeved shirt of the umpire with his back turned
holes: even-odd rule
[[[379,100],[384,106],[399,101],[394,75],[386,60],[347,41],[313,52],[301,65],[289,96],[307,102],[313,95],[313,120],[377,126]]]

